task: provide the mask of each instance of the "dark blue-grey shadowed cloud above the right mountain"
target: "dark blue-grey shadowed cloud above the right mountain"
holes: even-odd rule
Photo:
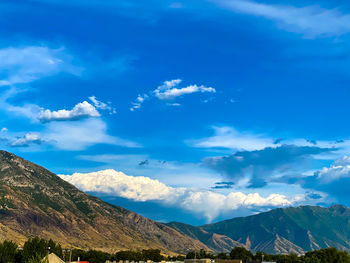
[[[295,164],[304,165],[312,155],[334,149],[315,146],[282,145],[262,150],[240,151],[229,156],[208,157],[203,164],[235,180],[244,179],[248,187],[263,187],[276,174],[295,171]],[[304,167],[305,168],[305,167]]]

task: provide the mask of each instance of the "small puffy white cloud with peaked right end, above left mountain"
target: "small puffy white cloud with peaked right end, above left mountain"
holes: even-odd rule
[[[42,110],[38,114],[41,122],[80,120],[87,117],[100,117],[100,113],[87,101],[83,101],[74,106],[72,110]]]

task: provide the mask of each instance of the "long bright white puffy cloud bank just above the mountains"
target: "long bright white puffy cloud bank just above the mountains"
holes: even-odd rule
[[[287,198],[280,194],[262,197],[258,193],[231,192],[224,195],[210,190],[175,188],[148,177],[128,176],[111,169],[60,175],[60,177],[83,191],[104,193],[141,202],[158,201],[202,215],[209,222],[221,213],[241,207],[290,206],[302,199],[301,196]]]

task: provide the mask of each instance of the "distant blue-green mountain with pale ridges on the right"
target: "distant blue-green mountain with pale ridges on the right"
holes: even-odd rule
[[[169,226],[214,250],[216,247],[207,238],[215,233],[227,241],[221,244],[221,249],[229,248],[235,241],[253,251],[268,253],[302,254],[326,247],[350,251],[350,209],[341,205],[279,208],[201,227],[175,222]]]

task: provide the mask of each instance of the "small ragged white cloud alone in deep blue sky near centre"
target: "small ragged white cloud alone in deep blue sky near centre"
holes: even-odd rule
[[[136,109],[140,109],[145,100],[152,98],[167,101],[167,106],[181,106],[180,103],[169,101],[192,93],[216,93],[216,90],[212,87],[196,84],[186,87],[179,87],[180,83],[182,83],[181,79],[164,81],[162,85],[158,86],[155,90],[149,92],[148,94],[139,94],[136,100],[131,103],[132,107],[130,110],[134,111]]]

